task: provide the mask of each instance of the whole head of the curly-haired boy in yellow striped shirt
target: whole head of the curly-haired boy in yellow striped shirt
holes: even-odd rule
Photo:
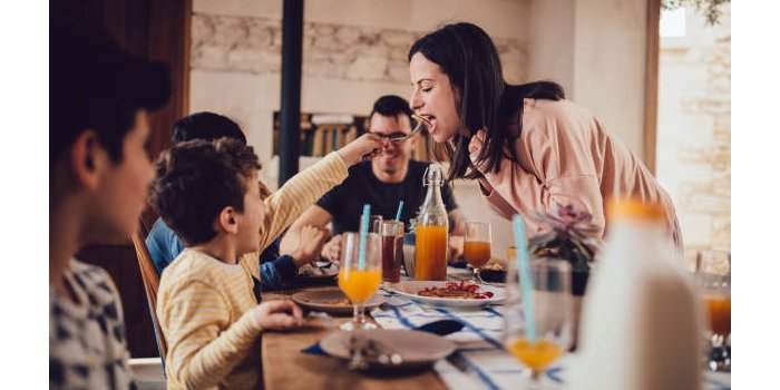
[[[196,139],[163,153],[150,202],[187,246],[235,242],[237,255],[259,250],[265,207],[257,155],[236,139]]]

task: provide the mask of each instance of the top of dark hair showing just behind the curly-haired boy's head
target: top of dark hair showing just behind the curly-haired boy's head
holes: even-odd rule
[[[193,139],[214,140],[223,137],[246,145],[246,136],[231,118],[214,113],[196,113],[178,119],[170,140],[174,145]]]

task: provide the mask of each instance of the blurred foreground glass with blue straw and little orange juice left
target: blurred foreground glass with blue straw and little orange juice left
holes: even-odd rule
[[[532,262],[530,296],[524,296],[517,260],[508,261],[507,301],[504,306],[504,344],[530,372],[528,388],[542,388],[542,374],[574,342],[572,269],[565,261]],[[533,313],[533,320],[525,313]]]

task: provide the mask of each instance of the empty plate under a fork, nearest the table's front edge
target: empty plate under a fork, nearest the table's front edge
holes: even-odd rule
[[[338,331],[328,334],[320,341],[320,347],[329,354],[341,358],[350,358],[350,338],[360,335],[367,339],[377,340],[378,342],[392,348],[394,353],[398,353],[403,359],[403,363],[393,368],[412,368],[429,365],[439,359],[448,357],[455,352],[455,342],[432,333],[410,330],[358,330],[358,331]],[[376,363],[378,365],[382,365]]]

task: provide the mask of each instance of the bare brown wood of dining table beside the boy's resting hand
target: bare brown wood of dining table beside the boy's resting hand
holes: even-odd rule
[[[290,299],[308,289],[316,286],[266,292],[263,301]],[[350,316],[306,318],[303,329],[264,333],[261,343],[264,389],[447,389],[430,368],[415,373],[367,374],[348,370],[343,360],[302,352],[350,320]]]

